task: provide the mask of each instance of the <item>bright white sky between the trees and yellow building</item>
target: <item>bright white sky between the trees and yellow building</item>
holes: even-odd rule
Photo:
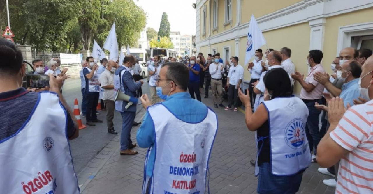
[[[171,31],[181,35],[195,35],[195,0],[134,0],[147,14],[146,28],[159,31],[163,12],[167,13]]]

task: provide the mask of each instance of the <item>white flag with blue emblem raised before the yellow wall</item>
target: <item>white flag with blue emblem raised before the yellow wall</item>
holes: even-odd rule
[[[249,62],[250,58],[255,55],[255,51],[266,44],[266,39],[264,39],[264,36],[259,29],[254,15],[251,15],[249,25],[250,26],[249,33],[247,34],[245,65]]]

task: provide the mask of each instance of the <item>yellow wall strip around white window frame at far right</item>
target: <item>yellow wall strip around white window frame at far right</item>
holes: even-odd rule
[[[326,18],[323,44],[323,67],[328,73],[332,73],[330,64],[337,56],[336,54],[339,27],[351,25],[354,23],[372,22],[372,18],[373,11],[371,8]]]

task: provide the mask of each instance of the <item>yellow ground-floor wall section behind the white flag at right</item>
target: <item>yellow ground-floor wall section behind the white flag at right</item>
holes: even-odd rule
[[[305,64],[305,59],[307,58],[308,51],[310,48],[310,26],[308,22],[288,26],[286,28],[280,28],[272,31],[267,31],[263,33],[264,38],[266,38],[267,45],[269,48],[275,50],[280,50],[282,47],[288,47],[291,49],[291,60],[295,64],[295,70],[302,74],[307,75],[307,64]],[[283,38],[288,37],[288,38]],[[291,37],[291,38],[289,38]],[[245,60],[245,49],[246,49],[247,37],[242,37],[240,40],[240,52],[239,58],[243,62]],[[266,45],[261,47],[263,52],[267,49]],[[250,61],[252,61],[251,59]],[[245,64],[245,74],[244,79],[250,80],[250,73],[247,69],[247,64]],[[300,92],[300,85],[297,83],[294,86],[295,93]]]

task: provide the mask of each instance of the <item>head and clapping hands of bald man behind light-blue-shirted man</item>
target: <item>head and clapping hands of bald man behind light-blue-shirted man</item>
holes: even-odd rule
[[[347,47],[341,50],[339,53],[339,69],[341,69],[343,63],[348,60],[358,61],[359,52],[351,47]],[[338,69],[337,69],[338,70]],[[340,96],[342,90],[336,86],[342,86],[344,80],[337,77],[337,79],[332,83],[329,81],[329,74],[315,73],[313,79],[324,85],[326,90],[330,92],[333,96]]]

